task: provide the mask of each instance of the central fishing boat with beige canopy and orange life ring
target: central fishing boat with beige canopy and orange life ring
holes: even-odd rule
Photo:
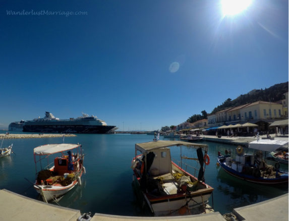
[[[171,146],[180,147],[179,165],[171,161],[168,148]],[[198,158],[182,156],[182,146],[196,148]],[[213,192],[213,188],[204,181],[205,167],[209,163],[207,150],[207,145],[184,141],[158,140],[135,145],[133,182],[155,216],[175,215],[176,212],[177,215],[192,214],[194,209],[206,207]],[[141,154],[137,155],[138,152]],[[182,168],[184,158],[199,161],[198,178]],[[196,173],[198,169],[194,169]]]

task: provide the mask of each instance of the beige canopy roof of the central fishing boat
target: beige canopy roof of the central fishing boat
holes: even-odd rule
[[[184,142],[184,141],[158,140],[158,141],[152,141],[152,142],[137,143],[136,150],[145,152],[148,150],[165,148],[165,147],[170,147],[170,146],[201,147],[202,149],[205,149],[205,150],[208,147],[208,145],[205,145],[205,144],[196,144],[196,143],[189,143],[189,142]]]

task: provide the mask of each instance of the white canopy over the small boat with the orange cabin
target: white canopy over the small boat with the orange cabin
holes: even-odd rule
[[[46,144],[34,148],[35,155],[49,155],[53,153],[63,152],[79,147],[80,144]]]

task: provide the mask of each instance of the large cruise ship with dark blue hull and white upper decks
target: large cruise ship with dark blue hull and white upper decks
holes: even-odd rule
[[[32,121],[25,121],[23,132],[37,133],[90,133],[104,134],[111,133],[117,128],[108,126],[96,116],[88,116],[82,113],[82,117],[60,120],[51,113],[45,112],[44,118],[36,118]]]

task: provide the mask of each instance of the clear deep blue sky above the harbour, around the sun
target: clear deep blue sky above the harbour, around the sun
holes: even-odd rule
[[[0,5],[0,128],[48,111],[156,130],[288,81],[286,0],[252,0],[236,15],[219,0]]]

